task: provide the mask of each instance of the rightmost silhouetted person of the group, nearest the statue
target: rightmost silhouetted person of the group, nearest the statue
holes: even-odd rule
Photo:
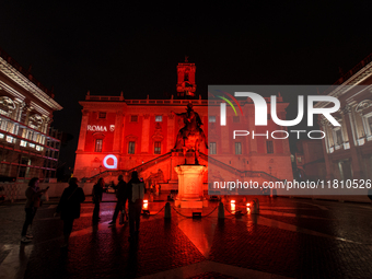
[[[133,241],[139,233],[140,216],[144,196],[144,183],[138,178],[138,173],[131,173],[131,179],[128,183],[129,189],[129,241]]]

